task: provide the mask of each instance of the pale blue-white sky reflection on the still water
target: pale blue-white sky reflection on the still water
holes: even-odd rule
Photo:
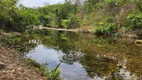
[[[44,45],[38,45],[33,53],[27,54],[27,57],[36,60],[38,63],[48,63],[50,69],[54,69],[60,62],[62,62],[59,69],[62,71],[61,76],[64,80],[71,80],[73,78],[73,80],[85,80],[84,77],[86,76],[86,72],[83,69],[83,66],[77,60],[74,61],[74,56],[67,56],[66,59],[64,56],[66,55],[64,55],[62,51],[47,48]]]

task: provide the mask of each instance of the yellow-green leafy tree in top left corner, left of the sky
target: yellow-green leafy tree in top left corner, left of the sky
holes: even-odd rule
[[[18,14],[16,3],[18,0],[0,1],[0,28],[8,28],[13,22],[13,17]]]

